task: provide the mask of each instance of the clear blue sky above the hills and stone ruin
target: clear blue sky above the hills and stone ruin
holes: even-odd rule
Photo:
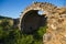
[[[50,2],[57,7],[66,6],[66,0],[0,0],[0,15],[19,18],[21,12],[34,1]]]

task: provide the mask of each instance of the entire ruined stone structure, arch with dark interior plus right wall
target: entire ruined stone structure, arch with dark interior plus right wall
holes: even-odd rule
[[[38,11],[44,13],[40,15]],[[32,33],[45,23],[48,28],[43,35],[43,43],[66,44],[66,8],[57,8],[47,2],[34,2],[22,12],[19,28]]]

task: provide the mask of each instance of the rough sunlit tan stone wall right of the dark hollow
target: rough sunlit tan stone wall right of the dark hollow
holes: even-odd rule
[[[56,11],[47,20],[48,29],[43,36],[45,44],[66,44],[66,8]]]

